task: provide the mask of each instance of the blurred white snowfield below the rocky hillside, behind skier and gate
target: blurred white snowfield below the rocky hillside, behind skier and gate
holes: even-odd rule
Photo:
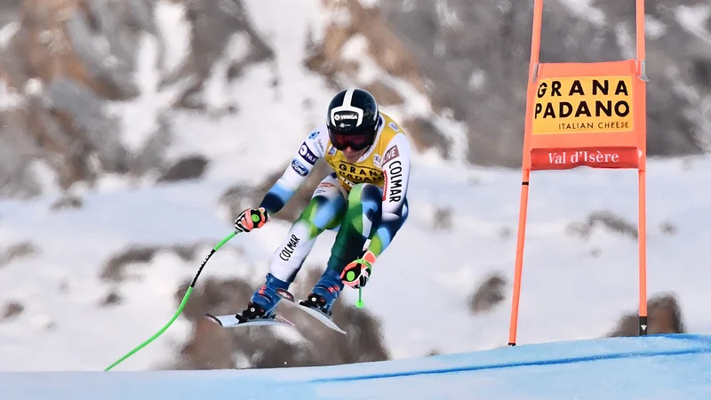
[[[688,171],[679,160],[649,168],[649,292],[675,292],[690,332],[711,331],[705,307],[711,271],[701,257],[711,194],[699,186],[709,167],[711,159],[703,158]],[[453,353],[506,345],[508,294],[482,316],[468,315],[467,295],[491,272],[513,275],[514,236],[502,238],[500,231],[515,232],[519,180],[518,172],[415,163],[411,220],[363,291],[395,358],[423,356],[433,348]],[[571,222],[599,209],[634,220],[634,184],[634,172],[622,171],[533,176],[519,344],[599,337],[611,331],[622,311],[635,311],[635,241],[604,229],[595,229],[587,240],[566,233]],[[230,224],[215,212],[222,188],[220,181],[205,180],[87,194],[78,212],[47,212],[50,198],[0,204],[3,242],[29,239],[41,249],[0,268],[7,283],[0,299],[26,305],[20,316],[0,324],[0,369],[100,370],[156,332],[176,308],[172,293],[179,282],[194,276],[202,254],[229,233]],[[435,207],[451,207],[450,231],[430,228]],[[674,236],[660,233],[666,220],[678,228]],[[263,274],[288,228],[275,221],[236,236],[212,257],[203,276]],[[324,265],[333,235],[326,232],[317,241],[308,264]],[[112,288],[98,277],[109,254],[128,244],[199,240],[205,244],[196,260],[165,254],[150,265],[134,265],[134,277],[118,286],[124,302],[98,306]],[[590,255],[594,248],[601,249],[596,258]],[[62,283],[67,291],[60,290]],[[355,301],[355,293],[346,292],[345,300]],[[48,331],[49,321],[54,326]],[[166,351],[184,340],[187,329],[180,318],[117,369],[149,368],[169,356]]]

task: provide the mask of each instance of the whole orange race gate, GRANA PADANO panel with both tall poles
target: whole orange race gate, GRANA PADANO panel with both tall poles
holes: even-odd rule
[[[631,0],[620,0],[631,1]],[[508,345],[515,346],[531,171],[634,168],[639,172],[639,334],[647,332],[644,0],[636,2],[636,57],[540,63],[543,0],[534,0],[523,135],[523,180]]]

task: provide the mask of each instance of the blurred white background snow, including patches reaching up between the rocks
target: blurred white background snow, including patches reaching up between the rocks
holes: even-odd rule
[[[30,202],[0,203],[2,243],[30,241],[38,248],[34,256],[0,266],[0,306],[17,301],[25,307],[19,316],[0,322],[0,370],[100,370],[148,339],[173,315],[177,285],[194,276],[203,255],[230,232],[231,224],[217,207],[222,192],[276,172],[321,121],[332,92],[320,76],[303,68],[301,59],[308,25],[318,28],[328,14],[316,0],[280,1],[280,12],[271,12],[274,2],[246,4],[255,25],[275,47],[275,62],[246,68],[235,84],[220,85],[220,68],[215,69],[211,99],[215,107],[234,102],[236,115],[170,115],[176,135],[171,156],[207,156],[211,164],[203,180],[153,187],[107,176],[96,190],[76,188],[84,198],[84,207],[76,211],[50,212],[57,198],[52,191]],[[163,10],[172,12],[164,15],[166,20],[180,18],[180,11]],[[244,45],[234,39],[233,46]],[[181,43],[171,44],[172,64],[180,60]],[[150,92],[156,87],[151,80],[156,71],[146,60],[156,60],[151,53],[156,46],[150,40],[145,46],[136,78],[148,88],[148,97],[112,106],[115,112],[132,113],[124,119],[125,140],[136,146],[140,135],[129,133],[150,131],[147,119],[156,116],[151,107],[165,107],[171,95]],[[239,48],[228,51],[234,57],[242,53]],[[281,84],[273,88],[275,75]],[[304,108],[306,99],[314,108]],[[427,112],[421,98],[412,99],[409,109],[394,109],[393,115]],[[456,122],[441,123],[454,127],[443,131],[461,142]],[[413,164],[411,217],[379,258],[363,292],[366,307],[381,319],[395,358],[423,356],[432,349],[453,353],[506,346],[520,172],[466,166],[459,156],[443,162],[432,153],[414,155]],[[711,221],[711,193],[704,185],[709,168],[709,156],[649,163],[649,294],[675,292],[691,332],[711,331],[705,307],[711,269],[703,257]],[[601,210],[634,223],[636,204],[635,171],[533,174],[519,344],[600,337],[611,331],[621,313],[635,312],[635,240],[604,228],[582,239],[567,228]],[[443,207],[451,208],[452,228],[435,230],[435,209]],[[664,234],[659,228],[664,222],[674,224],[677,233]],[[203,276],[263,276],[288,228],[274,221],[236,236],[212,257]],[[317,241],[309,265],[325,264],[333,236],[326,232]],[[110,256],[132,244],[196,241],[204,246],[192,262],[166,252],[149,265],[133,265],[128,281],[116,286],[123,302],[100,307],[100,300],[115,289],[99,277]],[[509,278],[507,300],[491,313],[470,316],[467,296],[494,272]],[[356,293],[346,292],[344,300],[355,301]],[[189,328],[180,317],[116,370],[147,369],[166,360],[187,338]]]

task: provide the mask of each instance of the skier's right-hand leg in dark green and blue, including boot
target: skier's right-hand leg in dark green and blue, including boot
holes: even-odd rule
[[[333,302],[343,289],[340,273],[352,260],[363,254],[363,246],[375,235],[382,214],[382,189],[359,184],[348,195],[348,210],[340,224],[328,260],[328,268],[308,296],[308,303],[330,313]]]

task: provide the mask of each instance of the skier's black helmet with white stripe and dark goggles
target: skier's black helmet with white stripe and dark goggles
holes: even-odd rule
[[[379,123],[378,102],[363,89],[341,91],[328,106],[328,136],[339,150],[350,147],[357,151],[371,146]]]

